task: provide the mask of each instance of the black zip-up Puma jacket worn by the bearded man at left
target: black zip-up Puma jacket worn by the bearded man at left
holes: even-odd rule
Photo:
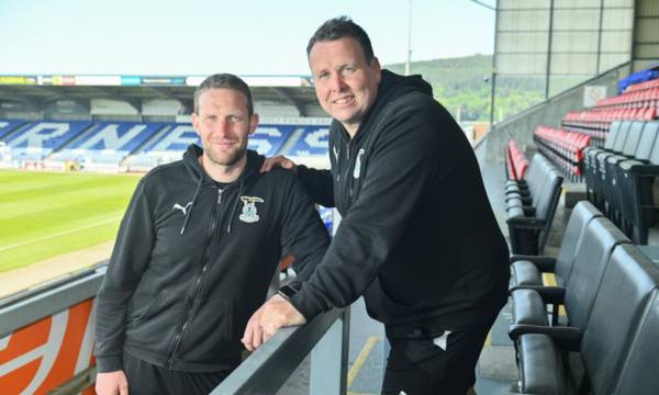
[[[308,279],[328,235],[294,174],[259,173],[247,151],[237,181],[201,168],[201,148],[138,183],[97,296],[99,372],[122,352],[171,370],[210,372],[239,363],[239,339],[263,304],[281,246]]]

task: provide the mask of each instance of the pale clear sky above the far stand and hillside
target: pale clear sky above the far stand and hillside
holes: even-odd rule
[[[494,1],[483,0],[487,3]],[[308,75],[305,46],[349,15],[402,63],[407,0],[0,0],[0,75]],[[412,59],[492,54],[494,11],[412,0]]]

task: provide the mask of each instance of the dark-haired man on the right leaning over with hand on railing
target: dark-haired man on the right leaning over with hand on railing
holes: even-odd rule
[[[383,393],[466,394],[507,300],[509,250],[476,156],[418,76],[381,70],[366,32],[346,18],[312,36],[309,64],[334,117],[332,170],[293,168],[312,198],[343,216],[308,281],[281,290],[250,318],[254,349],[282,326],[360,295],[391,343]]]

